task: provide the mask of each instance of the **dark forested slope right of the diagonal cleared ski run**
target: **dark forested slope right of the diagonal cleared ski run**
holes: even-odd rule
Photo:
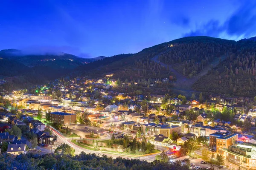
[[[256,95],[256,42],[239,41],[226,60],[193,86],[198,91],[235,96]]]

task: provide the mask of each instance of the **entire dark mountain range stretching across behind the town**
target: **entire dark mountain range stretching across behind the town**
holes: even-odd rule
[[[11,52],[16,55],[10,57]],[[0,51],[0,57],[6,59],[7,64],[2,64],[6,69],[12,66],[9,62],[13,65],[20,63],[20,68],[10,69],[12,74],[4,72],[6,77],[19,75],[19,81],[14,81],[13,77],[9,81],[14,84],[24,79],[23,82],[36,84],[66,75],[98,78],[112,73],[114,79],[139,85],[124,86],[124,92],[131,88],[131,91],[139,89],[155,94],[189,96],[203,92],[205,95],[256,96],[256,41],[184,37],[145,48],[136,54],[96,57],[96,61],[90,59],[90,63],[88,59],[71,54],[22,58],[17,56],[19,51],[11,52]],[[159,81],[163,78],[168,78],[170,83]]]

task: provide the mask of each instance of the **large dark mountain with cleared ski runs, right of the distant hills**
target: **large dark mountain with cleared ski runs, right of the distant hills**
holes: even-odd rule
[[[153,85],[152,93],[256,96],[256,42],[198,36],[184,37],[145,48],[90,72]],[[169,78],[172,85],[157,80]],[[144,89],[146,90],[146,89]]]

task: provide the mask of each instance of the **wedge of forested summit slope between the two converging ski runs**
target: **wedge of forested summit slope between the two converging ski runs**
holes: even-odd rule
[[[169,49],[159,59],[189,78],[216,59],[221,62],[230,51],[236,49],[235,41],[218,38],[186,37],[183,40],[172,41]]]

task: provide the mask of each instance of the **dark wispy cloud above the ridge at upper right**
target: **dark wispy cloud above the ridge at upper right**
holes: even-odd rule
[[[218,20],[210,20],[184,36],[232,37],[236,40],[256,36],[255,5],[254,2],[242,4],[223,24],[220,24]]]

